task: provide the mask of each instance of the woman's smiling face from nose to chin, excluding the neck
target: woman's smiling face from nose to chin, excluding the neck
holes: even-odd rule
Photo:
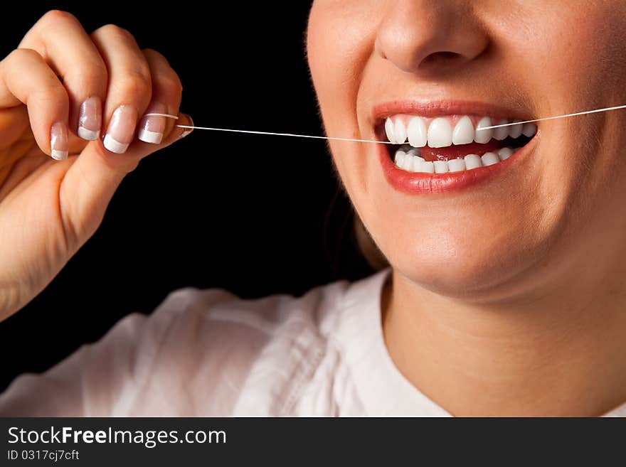
[[[399,146],[331,141],[396,272],[479,297],[623,251],[626,110],[539,122],[534,136],[475,127],[626,104],[625,30],[622,0],[314,1],[309,65],[327,135],[408,131],[420,148],[396,165]]]

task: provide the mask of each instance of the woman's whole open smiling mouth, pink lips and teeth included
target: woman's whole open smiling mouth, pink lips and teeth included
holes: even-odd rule
[[[532,117],[484,105],[395,107],[379,109],[375,130],[380,141],[391,143],[379,145],[388,181],[408,193],[487,180],[512,166],[537,134],[536,124],[521,123]],[[484,129],[502,124],[512,125]]]

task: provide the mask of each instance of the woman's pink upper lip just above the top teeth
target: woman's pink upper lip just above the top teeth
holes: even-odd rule
[[[494,119],[531,120],[529,112],[519,108],[508,108],[500,105],[487,104],[467,100],[415,101],[393,100],[377,104],[372,110],[375,126],[387,117],[396,114],[413,114],[420,117],[442,117],[445,115],[484,115]]]

